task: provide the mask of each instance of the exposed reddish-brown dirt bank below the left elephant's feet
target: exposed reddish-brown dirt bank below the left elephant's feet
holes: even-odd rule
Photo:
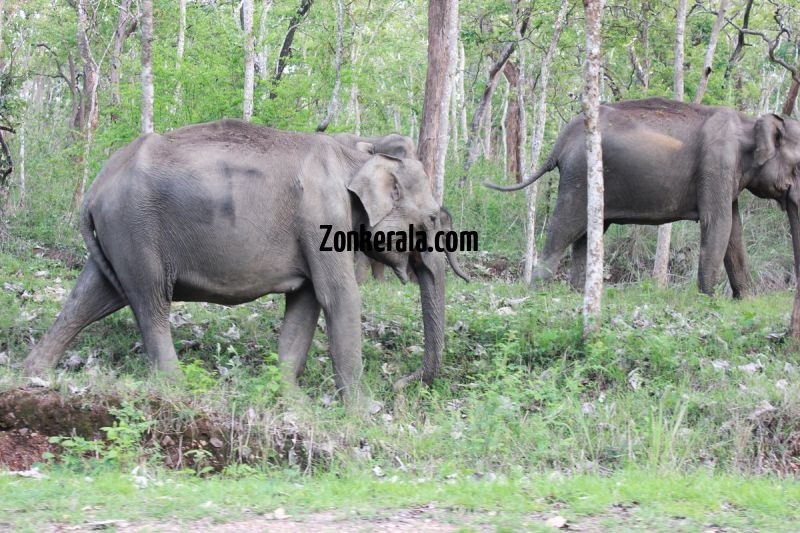
[[[102,428],[114,425],[115,410],[122,403],[113,396],[62,394],[45,387],[0,392],[0,465],[29,466],[41,461],[46,451],[58,452],[58,446],[56,450],[45,446],[50,437],[105,440]],[[329,447],[307,443],[306,432],[290,416],[261,420],[246,413],[231,419],[200,411],[190,402],[154,396],[135,403],[152,422],[142,435],[142,446],[158,449],[168,468],[213,473],[229,464],[267,460],[306,469],[309,462],[316,465],[330,459]]]

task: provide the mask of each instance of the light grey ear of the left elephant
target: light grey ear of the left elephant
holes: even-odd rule
[[[394,169],[397,159],[383,154],[370,157],[356,171],[347,189],[353,192],[367,211],[369,225],[375,227],[386,218],[400,199]]]

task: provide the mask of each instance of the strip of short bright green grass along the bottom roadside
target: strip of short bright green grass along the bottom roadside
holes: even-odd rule
[[[54,470],[46,480],[0,477],[0,520],[16,530],[43,525],[120,519],[158,523],[208,518],[242,520],[283,507],[300,520],[317,511],[369,516],[436,502],[470,526],[542,527],[542,516],[573,524],[630,530],[633,517],[647,530],[710,527],[792,531],[800,519],[800,485],[772,477],[625,470],[609,476],[532,474],[492,481],[470,477],[377,478],[344,472],[297,478],[291,472],[245,479],[193,479],[153,473],[147,485],[107,472],[92,478]],[[631,515],[619,512],[627,508]],[[632,511],[631,511],[632,509]],[[444,515],[447,518],[447,514]]]

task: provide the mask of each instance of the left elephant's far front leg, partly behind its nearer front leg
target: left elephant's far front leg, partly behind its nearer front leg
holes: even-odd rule
[[[286,295],[286,312],[278,340],[278,359],[284,378],[292,386],[297,385],[297,378],[305,370],[319,310],[320,305],[311,283]]]

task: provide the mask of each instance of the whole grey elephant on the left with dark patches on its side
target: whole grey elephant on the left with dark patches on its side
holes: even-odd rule
[[[80,227],[90,253],[55,324],[25,361],[52,368],[88,324],[130,305],[155,366],[175,372],[172,301],[232,305],[286,294],[278,352],[302,373],[320,309],[336,387],[357,392],[361,298],[350,253],[322,252],[324,230],[441,229],[419,161],[348,149],[324,134],[235,120],[146,135],[106,163],[86,194]],[[444,345],[443,253],[373,254],[420,280],[425,355],[400,384],[436,375]]]

